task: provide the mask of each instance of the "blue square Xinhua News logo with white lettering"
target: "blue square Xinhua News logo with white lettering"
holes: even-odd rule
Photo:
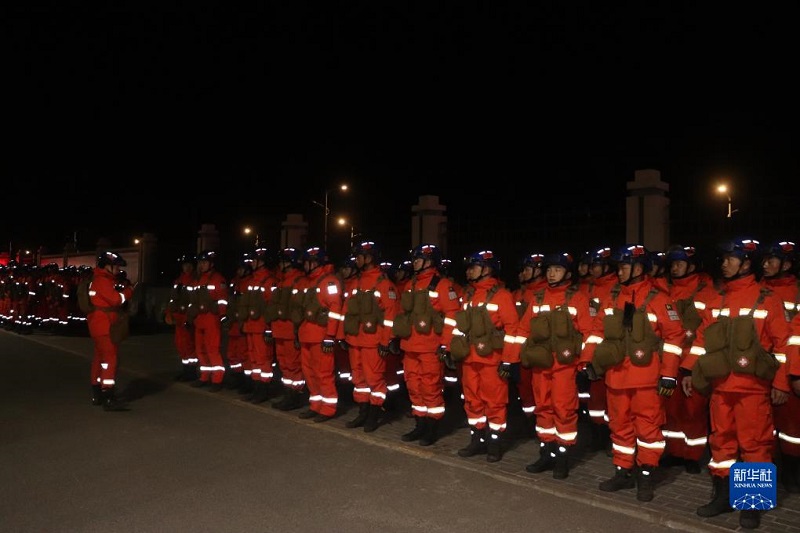
[[[734,463],[730,470],[730,504],[737,511],[774,509],[778,503],[778,469],[773,463]]]

